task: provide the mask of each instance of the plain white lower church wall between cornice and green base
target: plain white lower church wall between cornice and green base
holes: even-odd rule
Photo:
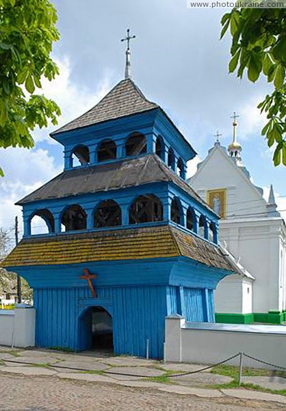
[[[279,239],[277,219],[220,222],[220,240],[242,265],[255,277],[253,312],[283,310],[283,292],[278,292]],[[283,288],[284,291],[284,288]]]

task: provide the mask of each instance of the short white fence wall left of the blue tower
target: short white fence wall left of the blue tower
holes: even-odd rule
[[[34,347],[35,309],[16,306],[15,310],[0,310],[0,345]]]

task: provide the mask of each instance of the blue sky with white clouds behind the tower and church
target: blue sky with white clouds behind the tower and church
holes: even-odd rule
[[[86,112],[124,77],[126,29],[131,44],[134,82],[144,95],[168,113],[198,156],[189,175],[222,134],[229,145],[233,112],[239,114],[237,139],[252,181],[274,185],[278,208],[286,209],[286,169],[274,167],[272,152],[261,137],[265,119],[256,106],[271,88],[229,75],[231,38],[220,40],[220,19],[226,9],[187,9],[185,0],[54,0],[61,39],[53,47],[60,75],[43,82],[43,92],[62,110],[57,127],[36,129],[34,149],[0,149],[5,177],[0,181],[0,227],[10,229],[21,208],[15,201],[55,177],[63,169],[62,146],[54,129]],[[284,214],[286,216],[286,214]]]

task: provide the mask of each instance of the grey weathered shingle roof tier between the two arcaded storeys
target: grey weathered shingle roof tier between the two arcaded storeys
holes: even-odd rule
[[[64,171],[17,204],[118,190],[153,182],[172,182],[211,210],[192,187],[170,170],[155,154]]]

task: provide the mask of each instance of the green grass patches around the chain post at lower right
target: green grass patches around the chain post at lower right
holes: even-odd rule
[[[239,384],[238,384],[239,366],[224,365],[224,364],[218,365],[218,366],[214,366],[213,369],[211,369],[211,373],[225,375],[226,377],[231,377],[233,378],[233,381],[229,382],[228,384],[211,384],[209,388],[216,388],[218,390],[221,390],[223,388],[239,388]],[[286,378],[286,372],[277,371],[277,370],[273,371],[273,370],[265,370],[265,369],[243,368],[242,376],[243,377],[261,377],[261,376],[273,377],[273,376],[276,376],[276,377]],[[257,384],[250,384],[250,383],[242,382],[242,384],[240,385],[240,388],[245,388],[246,390],[260,391],[262,393],[278,394],[278,395],[283,395],[286,397],[286,390],[270,390],[269,388],[263,388]]]

